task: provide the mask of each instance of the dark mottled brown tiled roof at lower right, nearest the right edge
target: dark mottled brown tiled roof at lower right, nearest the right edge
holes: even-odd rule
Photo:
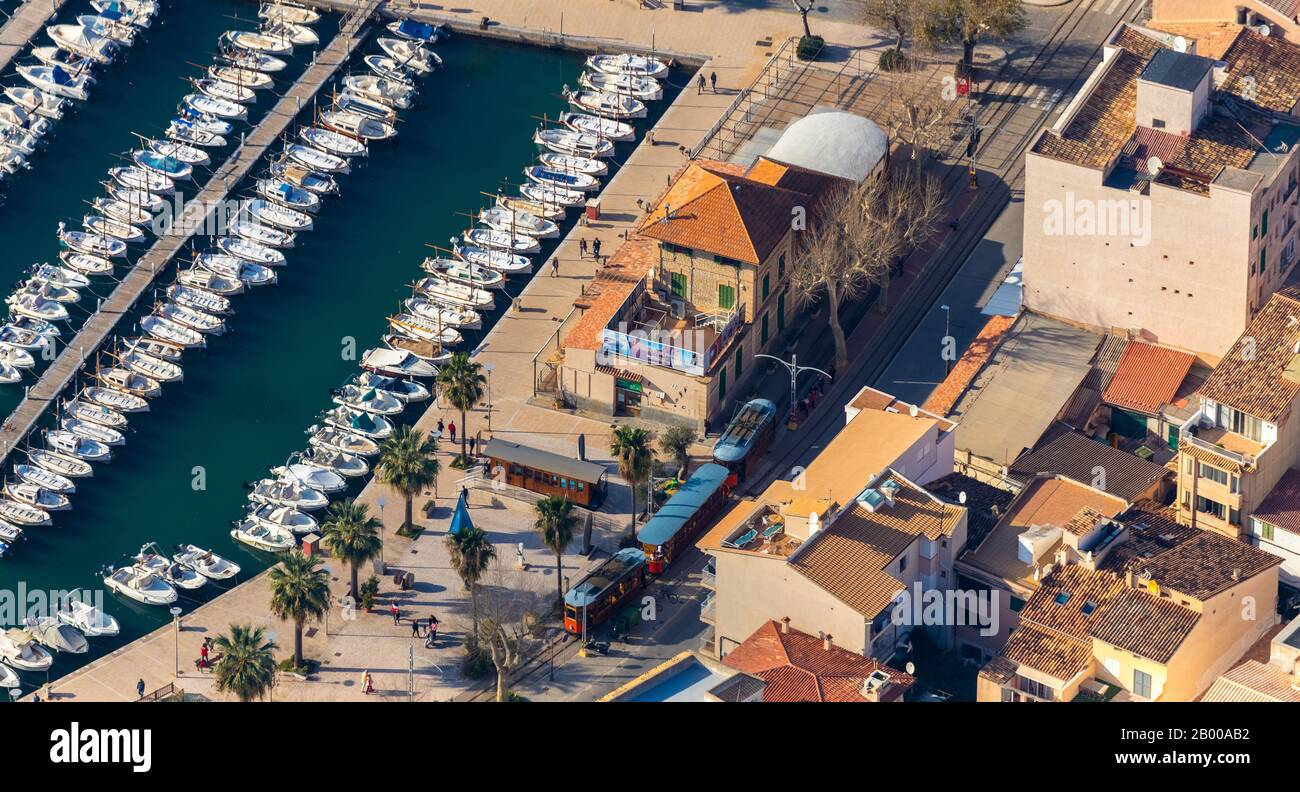
[[[1271,553],[1201,531],[1147,559],[1143,570],[1161,588],[1204,601],[1280,563],[1282,558]]]

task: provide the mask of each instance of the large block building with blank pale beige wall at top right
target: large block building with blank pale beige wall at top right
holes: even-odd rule
[[[1214,360],[1296,261],[1300,47],[1123,25],[1026,153],[1024,306]]]

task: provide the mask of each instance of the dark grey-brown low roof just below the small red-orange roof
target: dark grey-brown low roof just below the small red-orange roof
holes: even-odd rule
[[[1130,503],[1169,475],[1169,471],[1154,462],[1089,440],[1078,432],[1065,432],[1013,462],[1008,476],[1020,484],[1037,473],[1092,481],[1096,479],[1093,471],[1098,467],[1105,471],[1105,486],[1098,489]]]

